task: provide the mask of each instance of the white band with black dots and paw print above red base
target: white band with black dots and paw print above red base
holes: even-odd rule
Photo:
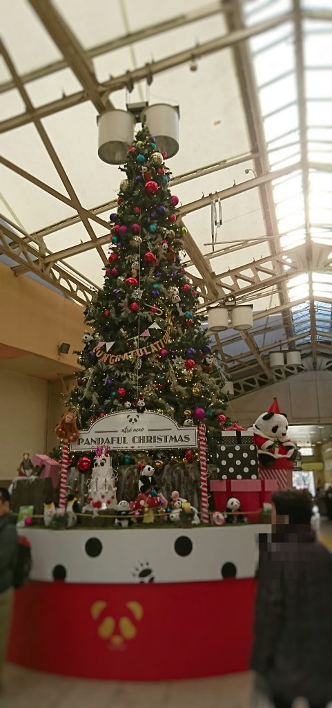
[[[25,529],[31,580],[66,583],[186,583],[252,578],[258,535],[270,525],[151,530]]]

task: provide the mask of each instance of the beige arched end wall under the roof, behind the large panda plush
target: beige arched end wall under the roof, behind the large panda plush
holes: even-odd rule
[[[227,413],[242,426],[251,426],[278,397],[289,423],[332,423],[332,372],[308,371],[278,384],[230,401]]]

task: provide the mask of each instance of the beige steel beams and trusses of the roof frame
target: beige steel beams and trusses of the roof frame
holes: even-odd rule
[[[240,184],[233,185],[230,188],[220,190],[213,196],[215,198],[219,198],[220,200],[225,200],[232,198],[234,195],[244,193],[247,190],[258,189],[261,198],[263,217],[266,224],[266,234],[258,236],[256,239],[243,239],[242,241],[239,240],[232,242],[229,245],[225,244],[225,246],[218,244],[221,246],[219,251],[216,251],[215,253],[208,253],[206,256],[203,256],[191,234],[188,232],[184,239],[186,253],[189,257],[186,267],[189,268],[190,265],[195,265],[198,273],[200,274],[199,277],[191,277],[193,277],[195,284],[201,290],[203,297],[202,311],[208,304],[220,302],[225,295],[230,293],[235,294],[239,302],[246,302],[249,298],[254,299],[256,297],[262,297],[262,295],[266,294],[278,294],[280,304],[275,307],[271,307],[264,312],[254,313],[254,321],[265,318],[267,323],[266,329],[269,329],[268,318],[275,314],[280,314],[280,326],[272,326],[271,331],[283,329],[285,331],[285,337],[281,341],[264,345],[259,348],[257,346],[255,336],[263,333],[264,330],[261,327],[256,330],[253,329],[250,333],[241,333],[239,335],[231,336],[226,340],[220,340],[218,335],[215,336],[216,346],[222,355],[226,369],[229,367],[231,361],[238,362],[235,367],[229,368],[230,374],[232,377],[235,377],[237,381],[242,379],[244,372],[247,370],[252,370],[253,368],[256,368],[258,372],[255,375],[257,381],[261,381],[260,385],[266,385],[266,382],[275,381],[275,372],[273,372],[268,365],[268,361],[265,356],[266,353],[278,346],[292,346],[298,340],[303,340],[307,336],[311,338],[312,342],[312,350],[310,350],[310,353],[312,355],[313,367],[316,366],[318,355],[320,357],[328,354],[331,355],[331,343],[326,344],[326,342],[324,343],[320,339],[320,337],[328,339],[328,333],[325,331],[316,331],[316,324],[318,324],[318,322],[316,322],[315,300],[319,299],[319,302],[325,302],[329,305],[332,304],[332,299],[328,297],[314,297],[312,272],[313,270],[315,272],[317,270],[321,272],[325,271],[323,271],[320,261],[316,263],[315,253],[313,252],[312,247],[313,244],[310,237],[310,229],[314,226],[314,224],[310,224],[309,218],[309,170],[316,169],[319,171],[331,171],[332,167],[319,162],[309,164],[307,157],[307,122],[306,96],[304,91],[302,20],[304,18],[310,18],[312,20],[324,20],[331,22],[332,12],[307,11],[301,8],[300,0],[293,0],[292,11],[276,16],[268,21],[247,27],[244,25],[240,0],[233,0],[232,3],[224,4],[217,2],[203,8],[199,8],[197,11],[170,18],[169,20],[158,23],[157,25],[151,25],[148,28],[137,30],[120,38],[116,38],[115,40],[105,42],[103,45],[98,45],[90,50],[84,50],[80,42],[78,42],[78,38],[76,38],[70,30],[61,14],[54,8],[54,6],[52,6],[50,0],[28,1],[39,16],[40,21],[42,21],[52,40],[61,51],[63,59],[60,59],[58,62],[54,62],[53,64],[49,64],[47,67],[40,67],[34,72],[19,75],[18,72],[16,72],[16,68],[8,50],[6,49],[6,46],[1,42],[0,51],[11,73],[11,79],[0,86],[0,93],[13,88],[18,89],[20,96],[23,98],[25,103],[26,110],[22,115],[12,116],[11,118],[8,118],[8,120],[0,122],[0,132],[13,130],[15,127],[32,122],[33,125],[35,125],[40,139],[42,139],[42,142],[47,149],[49,158],[52,160],[52,163],[57,170],[64,187],[66,188],[68,196],[57,192],[57,190],[54,190],[54,188],[50,185],[40,181],[32,174],[24,171],[10,161],[3,158],[1,159],[1,162],[6,166],[6,168],[13,170],[22,178],[27,179],[37,187],[45,190],[54,198],[57,198],[67,204],[71,207],[71,209],[73,209],[74,212],[76,212],[76,214],[68,219],[62,220],[57,224],[50,224],[49,226],[45,225],[44,228],[34,234],[27,234],[15,224],[11,224],[10,222],[8,223],[8,219],[6,219],[8,227],[0,226],[1,251],[6,253],[9,258],[12,258],[13,261],[18,264],[13,268],[14,273],[16,273],[16,275],[20,275],[20,273],[30,270],[32,273],[40,275],[40,278],[46,282],[58,287],[59,290],[64,292],[65,295],[76,299],[77,302],[80,302],[81,304],[87,304],[91,297],[93,297],[95,285],[86,279],[83,274],[80,278],[80,274],[64,262],[64,259],[76,255],[77,253],[88,251],[88,249],[96,249],[102,259],[102,263],[107,263],[107,256],[105,255],[102,246],[109,242],[110,226],[109,222],[105,221],[105,219],[102,219],[98,215],[106,212],[109,208],[112,209],[115,202],[109,201],[103,205],[92,207],[90,209],[86,209],[83,205],[81,205],[73,185],[71,185],[71,182],[69,181],[69,177],[66,174],[64,166],[61,164],[52,142],[49,140],[45,127],[42,125],[41,118],[46,115],[57,113],[59,110],[65,110],[71,105],[78,105],[83,101],[90,101],[93,103],[97,113],[102,113],[106,108],[112,108],[112,103],[109,101],[109,96],[113,91],[117,91],[122,88],[131,90],[137,81],[141,81],[142,79],[147,79],[150,81],[154,74],[167,72],[167,70],[172,67],[181,66],[190,62],[192,59],[199,59],[200,57],[207,56],[213,52],[219,52],[226,47],[232,47],[239,77],[239,88],[242,93],[242,100],[251,139],[251,152],[242,156],[236,156],[232,159],[219,161],[215,164],[203,166],[195,171],[192,171],[191,173],[179,175],[172,180],[172,184],[175,185],[182,183],[198,176],[211,173],[212,171],[228,169],[235,164],[240,164],[241,162],[245,163],[246,161],[252,161],[254,163],[254,178]],[[114,49],[130,45],[134,42],[143,41],[144,39],[157,35],[158,33],[171,31],[174,28],[179,28],[189,23],[199,22],[203,18],[218,15],[220,12],[225,13],[225,18],[229,28],[227,34],[219,36],[215,38],[215,40],[204,42],[201,45],[195,45],[194,47],[189,48],[189,50],[178,52],[177,54],[160,59],[158,62],[151,62],[150,64],[146,64],[144,67],[138,67],[137,69],[134,69],[134,71],[126,72],[121,76],[111,77],[103,84],[98,83],[93,72],[93,57],[100,56],[106,52],[112,52]],[[246,40],[289,21],[292,22],[296,47],[297,96],[300,111],[300,162],[295,162],[294,164],[287,166],[287,168],[271,169],[268,161],[266,139],[263,133],[263,121],[261,118],[261,110],[259,108],[258,89],[254,79],[252,57]],[[74,93],[71,96],[64,96],[64,98],[61,98],[60,101],[53,101],[52,103],[35,108],[30,101],[27,91],[25,90],[25,84],[67,67],[71,69],[73,74],[75,74],[76,79],[78,79],[82,86],[82,91]],[[285,137],[287,137],[287,133],[285,134]],[[280,137],[278,137],[278,139],[280,139]],[[299,247],[298,249],[292,249],[292,252],[290,253],[289,251],[282,251],[280,246],[280,236],[282,234],[278,233],[278,222],[275,216],[275,202],[273,200],[272,182],[283,176],[291,176],[296,171],[300,172],[302,176],[306,243],[304,249],[303,247]],[[182,205],[179,209],[180,216],[183,218],[186,214],[199,210],[202,207],[206,207],[207,205],[210,205],[210,203],[211,195],[208,197],[203,196],[199,200]],[[96,236],[89,219],[93,222],[97,222],[105,228],[104,236]],[[83,223],[89,236],[89,240],[86,243],[77,244],[76,246],[71,246],[68,249],[62,249],[61,251],[55,251],[54,253],[46,248],[43,241],[45,236],[52,233],[55,234],[59,230],[65,229],[66,227],[80,221]],[[11,227],[13,227],[13,230]],[[232,268],[232,270],[227,270],[225,273],[216,274],[214,272],[212,267],[213,258],[221,256],[223,253],[230,253],[239,249],[250,249],[251,246],[257,245],[259,242],[268,244],[271,255],[265,256],[264,258],[259,258],[256,261],[245,263],[238,268]],[[285,261],[286,255],[287,261]],[[328,265],[326,265],[326,267],[328,268]],[[290,302],[287,291],[287,280],[289,280],[290,277],[306,272],[309,272],[308,297]],[[244,282],[247,283],[247,285],[244,285]],[[308,323],[310,324],[310,329],[297,334],[294,332],[293,328],[291,308],[306,302],[309,303]],[[226,355],[223,351],[223,347],[240,341],[241,338],[247,347],[247,351],[232,357]],[[309,349],[310,346],[311,345],[309,345]],[[307,353],[308,345],[301,346],[301,350],[304,354]],[[243,362],[243,364],[241,364],[242,360],[248,358],[249,363]],[[241,390],[242,389],[243,387]]]

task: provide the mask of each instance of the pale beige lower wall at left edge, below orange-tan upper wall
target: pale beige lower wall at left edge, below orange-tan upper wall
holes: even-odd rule
[[[23,452],[46,452],[49,382],[0,370],[0,479],[12,479]]]

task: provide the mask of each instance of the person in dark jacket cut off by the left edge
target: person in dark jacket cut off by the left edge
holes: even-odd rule
[[[13,565],[18,552],[16,526],[9,512],[9,501],[8,490],[0,487],[0,687],[13,607]]]

